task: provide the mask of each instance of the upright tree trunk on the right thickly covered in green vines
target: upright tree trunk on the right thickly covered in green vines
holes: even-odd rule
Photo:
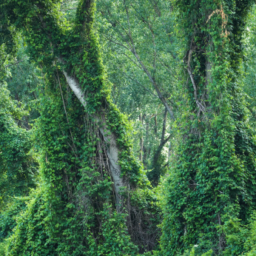
[[[253,1],[174,1],[186,52],[179,146],[166,181],[163,255],[227,243],[229,218],[246,223],[255,201],[256,141],[241,85],[243,30]]]

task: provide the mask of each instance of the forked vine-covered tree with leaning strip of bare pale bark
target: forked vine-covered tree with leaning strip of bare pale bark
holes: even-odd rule
[[[0,3],[44,80],[34,136],[41,181],[8,243],[9,255],[135,255],[135,244],[142,252],[152,249],[157,221],[138,206],[155,200],[135,192],[139,180],[147,181],[132,155],[126,118],[110,101],[93,30],[94,1],[79,1],[70,22],[59,12],[60,1]],[[144,233],[132,234],[144,218],[152,223],[141,225],[143,232],[152,229],[150,245]]]

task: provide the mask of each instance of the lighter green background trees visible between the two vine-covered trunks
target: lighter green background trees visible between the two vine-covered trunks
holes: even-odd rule
[[[169,136],[169,125],[178,114],[175,104],[178,41],[175,39],[175,13],[169,1],[98,1],[98,32],[107,65],[112,91],[118,107],[138,123],[135,137],[140,158],[152,183],[158,183],[166,169],[163,147]],[[162,121],[169,112],[162,139]],[[173,113],[172,113],[173,112]],[[138,117],[141,116],[140,120]],[[159,132],[160,131],[160,132]],[[168,138],[168,139],[166,139]],[[138,144],[138,142],[139,144]],[[161,154],[161,161],[156,159]],[[160,160],[160,159],[159,159]],[[154,174],[153,174],[154,173]]]

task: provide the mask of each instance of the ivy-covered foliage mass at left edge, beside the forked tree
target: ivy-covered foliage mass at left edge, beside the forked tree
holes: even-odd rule
[[[26,112],[10,99],[6,84],[0,85],[0,209],[4,209],[13,196],[26,195],[35,186],[37,164],[30,152],[30,132],[18,127],[14,119]]]

